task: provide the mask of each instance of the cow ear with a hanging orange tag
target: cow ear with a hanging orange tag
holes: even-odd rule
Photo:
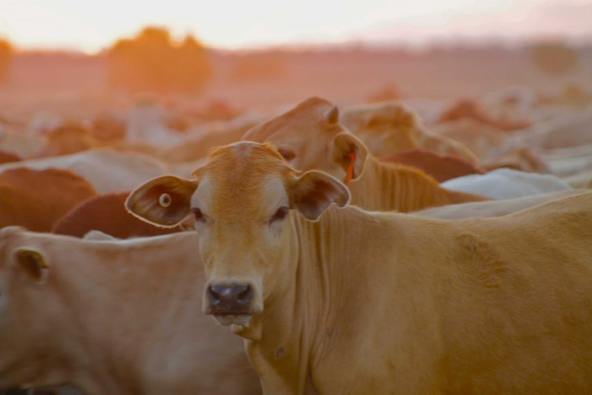
[[[358,137],[348,132],[342,132],[335,136],[333,139],[333,160],[345,172],[348,172],[349,179],[356,180],[361,177],[366,167],[366,159],[368,159],[368,148]]]

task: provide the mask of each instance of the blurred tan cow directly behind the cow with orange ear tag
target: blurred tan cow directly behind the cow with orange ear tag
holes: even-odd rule
[[[424,148],[477,162],[475,153],[464,144],[431,133],[417,114],[396,100],[350,106],[343,110],[340,118],[343,126],[360,137],[376,157]]]

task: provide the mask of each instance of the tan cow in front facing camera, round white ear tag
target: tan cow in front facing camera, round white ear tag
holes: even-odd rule
[[[591,394],[592,193],[444,221],[345,206],[272,146],[216,150],[127,207],[192,213],[203,310],[244,337],[264,394]]]

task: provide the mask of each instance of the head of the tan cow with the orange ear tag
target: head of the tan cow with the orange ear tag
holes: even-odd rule
[[[298,170],[321,170],[337,179],[353,163],[352,180],[363,174],[368,150],[339,123],[339,110],[327,100],[309,98],[294,109],[251,128],[243,141],[270,143]]]

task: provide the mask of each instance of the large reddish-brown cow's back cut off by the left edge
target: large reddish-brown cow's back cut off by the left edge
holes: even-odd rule
[[[68,169],[14,168],[0,173],[0,227],[49,232],[72,207],[95,196],[87,179]]]

